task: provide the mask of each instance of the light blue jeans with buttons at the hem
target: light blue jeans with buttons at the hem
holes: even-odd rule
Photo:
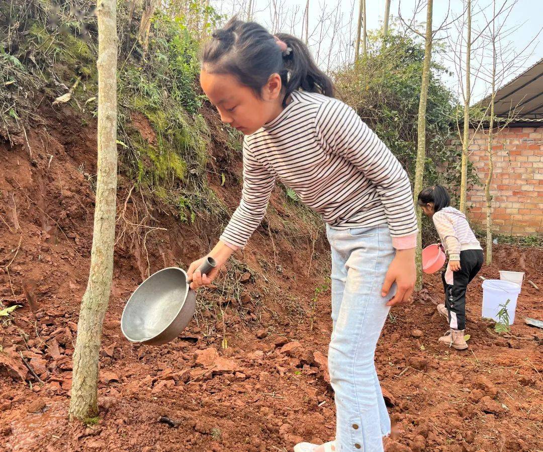
[[[395,250],[387,225],[326,229],[332,248],[332,338],[328,352],[335,392],[336,451],[379,452],[390,418],[375,372],[375,347],[387,319],[381,287]]]

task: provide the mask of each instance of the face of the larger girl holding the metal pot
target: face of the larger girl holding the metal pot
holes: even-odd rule
[[[254,134],[282,111],[281,77],[271,74],[262,87],[261,97],[231,74],[214,74],[204,68],[200,85],[217,108],[220,120],[244,135]]]

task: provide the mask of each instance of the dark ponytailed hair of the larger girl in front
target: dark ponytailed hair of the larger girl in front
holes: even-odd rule
[[[285,87],[283,106],[288,96],[300,89],[334,97],[332,80],[319,70],[307,46],[295,36],[275,35],[288,47],[283,52],[266,28],[236,17],[211,36],[201,50],[202,66],[206,66],[206,71],[233,74],[257,96],[261,95],[271,74],[277,73]]]

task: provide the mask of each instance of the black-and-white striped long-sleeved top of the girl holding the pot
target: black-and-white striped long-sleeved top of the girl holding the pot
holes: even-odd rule
[[[243,191],[220,239],[244,247],[275,180],[334,228],[388,223],[394,238],[416,233],[413,194],[400,162],[338,99],[296,91],[273,121],[243,143]]]

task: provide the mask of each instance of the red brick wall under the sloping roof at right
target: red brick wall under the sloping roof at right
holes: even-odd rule
[[[470,134],[473,136],[473,132]],[[488,136],[479,132],[470,146],[470,161],[481,185],[470,187],[470,217],[483,227],[486,222],[484,182],[488,177]],[[500,234],[543,234],[543,127],[504,129],[493,140],[494,231]]]

